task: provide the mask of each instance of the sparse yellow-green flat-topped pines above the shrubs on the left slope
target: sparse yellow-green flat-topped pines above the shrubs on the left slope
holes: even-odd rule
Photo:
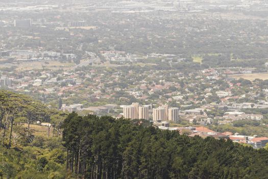
[[[48,108],[30,96],[0,91],[0,141],[7,148],[32,143],[35,136],[30,124],[46,122],[51,135],[60,136],[61,124],[66,114],[55,108]],[[27,128],[23,124],[27,125]],[[48,133],[49,137],[50,133]]]

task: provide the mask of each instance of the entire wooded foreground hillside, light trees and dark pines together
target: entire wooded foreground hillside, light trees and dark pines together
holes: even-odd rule
[[[0,92],[0,178],[266,178],[268,151]],[[51,127],[34,124],[47,122]],[[50,133],[51,131],[51,133]]]

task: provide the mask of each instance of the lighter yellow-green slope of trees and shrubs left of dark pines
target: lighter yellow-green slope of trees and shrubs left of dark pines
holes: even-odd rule
[[[62,111],[29,96],[0,91],[0,178],[68,176],[60,129],[64,118]],[[34,125],[36,121],[51,125]]]

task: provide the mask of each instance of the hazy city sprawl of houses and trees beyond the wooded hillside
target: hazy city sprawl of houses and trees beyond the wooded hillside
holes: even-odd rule
[[[68,113],[268,143],[267,1],[81,2],[0,3],[1,88]]]

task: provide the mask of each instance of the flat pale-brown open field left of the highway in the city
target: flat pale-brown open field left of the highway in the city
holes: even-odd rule
[[[25,61],[19,62],[16,64],[17,70],[33,70],[33,69],[51,69],[51,70],[58,70],[58,69],[72,69],[76,64],[72,62],[61,63],[60,61],[50,60],[50,61]]]

